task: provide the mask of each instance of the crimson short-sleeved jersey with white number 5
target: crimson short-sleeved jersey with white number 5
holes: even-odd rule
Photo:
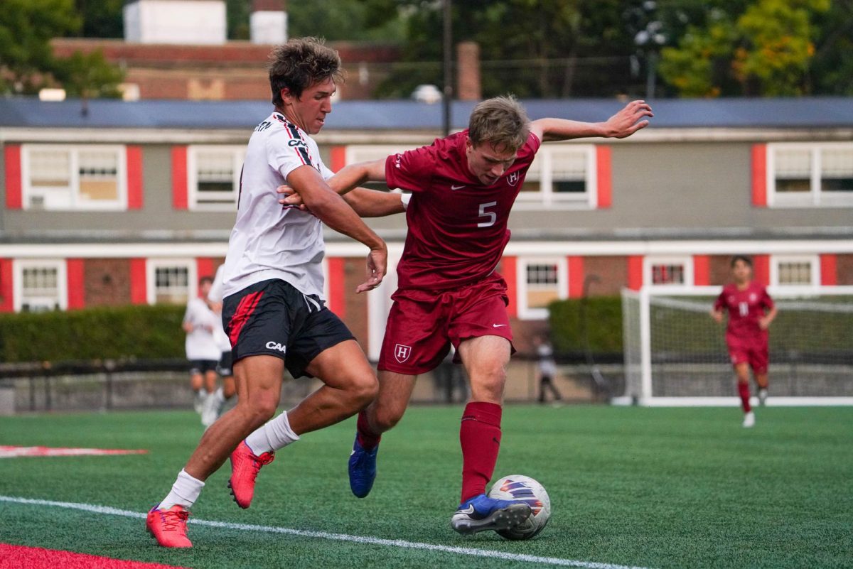
[[[409,233],[397,264],[399,288],[448,290],[495,270],[509,241],[509,210],[541,142],[530,135],[491,186],[467,168],[467,130],[386,159],[388,187],[412,192]]]

